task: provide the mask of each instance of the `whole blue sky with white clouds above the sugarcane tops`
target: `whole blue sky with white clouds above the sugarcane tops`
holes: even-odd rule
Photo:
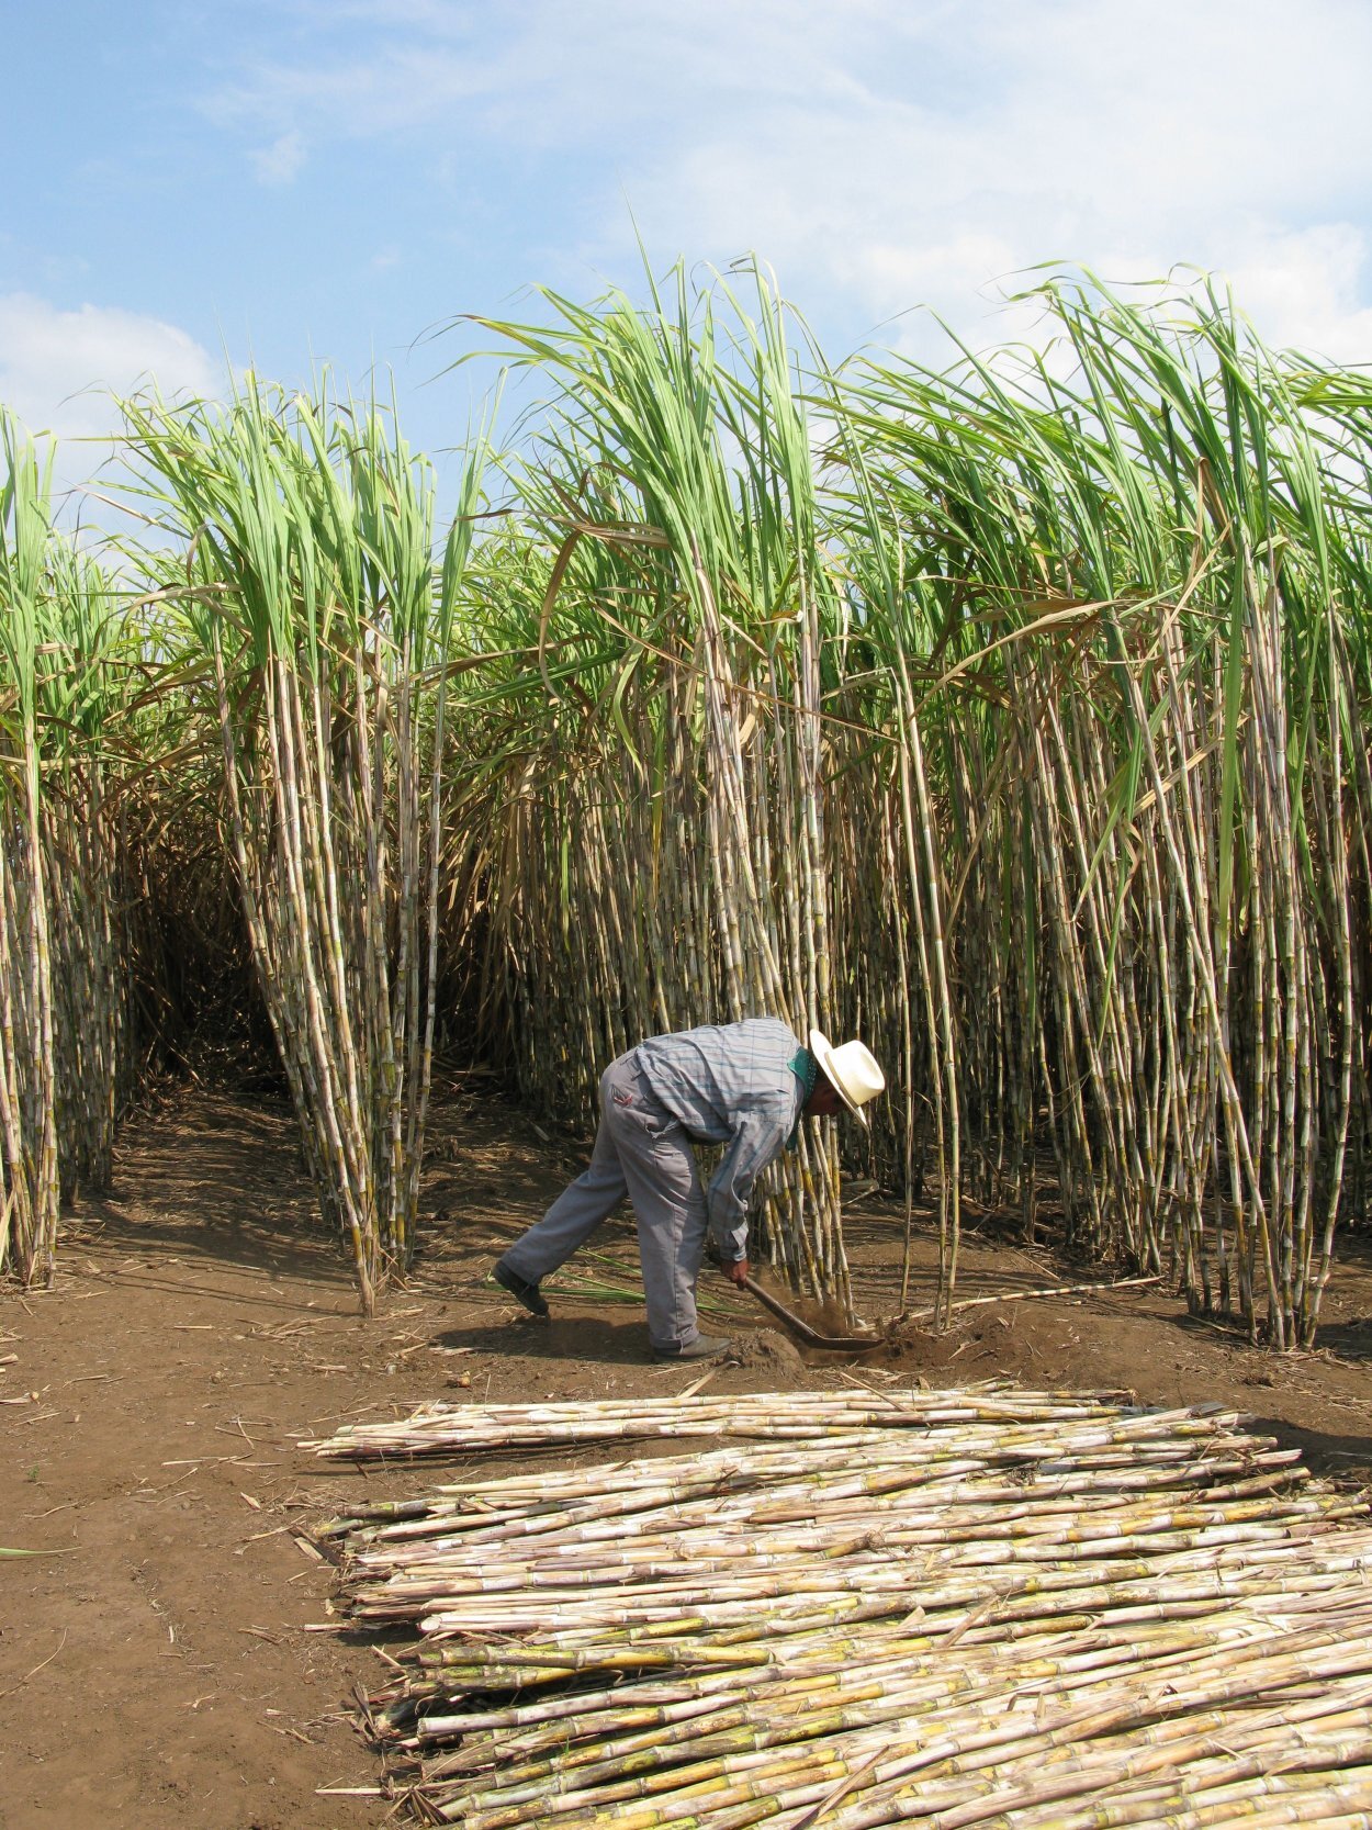
[[[0,399],[395,371],[461,439],[463,311],[756,249],[840,357],[1026,320],[1074,258],[1224,269],[1372,361],[1372,0],[0,0]],[[88,468],[66,456],[64,474]]]

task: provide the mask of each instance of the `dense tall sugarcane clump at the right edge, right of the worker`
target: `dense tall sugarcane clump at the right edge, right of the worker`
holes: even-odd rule
[[[1251,1332],[1308,1341],[1312,1254],[1367,1080],[1348,996],[1367,884],[1345,866],[1365,772],[1343,761],[1337,662],[1357,620],[1337,564],[1363,511],[1335,481],[1346,452],[1304,404],[1319,384],[1215,295],[1171,324],[1085,287],[1045,300],[1070,381],[873,361],[838,393],[858,540],[898,538],[906,597],[931,600],[940,844],[971,844],[953,851],[964,985],[997,922],[979,899],[1004,895],[986,867],[999,834],[1004,858],[1032,833],[1012,920],[1037,911],[1043,928],[1019,961],[1046,985],[1013,968],[1039,1038],[1001,1047],[991,1098],[990,1067],[959,1065],[981,1076],[968,1109],[995,1127],[968,1142],[1012,1193],[1030,1140],[1021,1125],[1006,1157],[1001,1114],[1043,1100],[1074,1237],[1140,1266],[1165,1255],[1196,1307],[1233,1299]],[[1315,737],[1335,719],[1337,743]],[[970,831],[957,809],[988,725],[1019,805],[991,800]],[[1226,1197],[1218,1228],[1207,1188]]]

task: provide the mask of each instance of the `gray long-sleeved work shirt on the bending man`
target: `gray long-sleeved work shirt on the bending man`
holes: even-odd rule
[[[748,1197],[799,1122],[805,1089],[792,1071],[799,1043],[777,1017],[651,1036],[633,1058],[644,1080],[697,1144],[728,1144],[706,1195],[724,1263],[748,1255]]]

